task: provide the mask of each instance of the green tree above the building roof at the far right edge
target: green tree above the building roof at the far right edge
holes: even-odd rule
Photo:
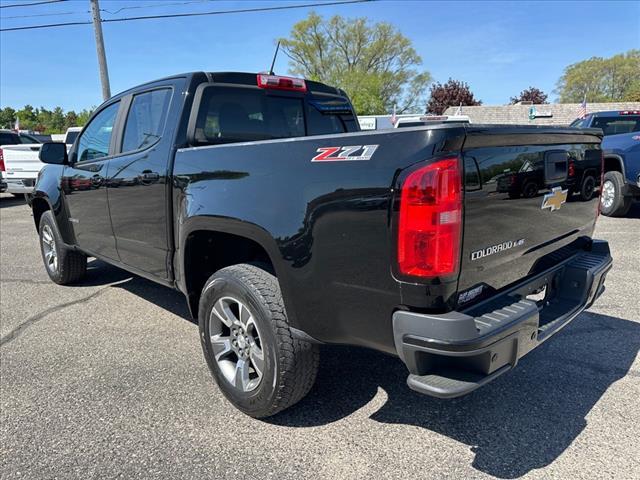
[[[564,69],[556,85],[561,103],[619,102],[637,98],[640,90],[640,50],[610,58],[591,57]],[[634,96],[634,92],[635,96]]]

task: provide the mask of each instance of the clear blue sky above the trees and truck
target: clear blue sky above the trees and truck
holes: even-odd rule
[[[1,0],[0,5],[30,0]],[[317,1],[317,0],[315,0]],[[185,3],[175,5],[176,3]],[[103,19],[176,12],[227,10],[283,1],[101,0]],[[174,5],[171,5],[174,4]],[[89,20],[88,0],[0,9],[0,25]],[[366,16],[395,24],[422,56],[433,78],[469,83],[485,104],[503,104],[529,85],[547,93],[563,68],[591,56],[640,48],[640,2],[426,2],[377,1],[326,6],[330,16]],[[117,93],[136,84],[191,70],[260,71],[268,68],[274,39],[310,9],[177,18],[104,25],[111,78]],[[72,15],[8,18],[77,12]],[[276,73],[286,73],[280,56]],[[554,99],[555,96],[551,95]],[[101,103],[90,25],[0,33],[0,106],[56,105],[65,110]]]

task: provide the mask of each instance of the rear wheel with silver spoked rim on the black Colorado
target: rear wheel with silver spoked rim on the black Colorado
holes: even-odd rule
[[[250,362],[250,367],[247,367],[254,376],[247,384],[253,383],[251,391],[245,391],[244,382],[237,381],[237,376],[234,376],[233,382],[240,383],[239,386],[234,385],[229,378],[230,369],[235,368],[237,375],[241,354],[231,351],[234,348],[231,344],[226,344],[227,349],[221,349],[220,340],[238,337],[233,337],[234,333],[231,331],[228,333],[229,337],[226,337],[226,332],[218,330],[227,327],[220,315],[216,318],[216,312],[213,311],[214,306],[220,310],[224,302],[232,305],[234,300],[249,310],[250,318],[259,333],[259,350],[264,363],[259,378],[255,378],[258,377],[258,370],[254,363]],[[237,315],[238,318],[241,316],[242,313]],[[233,265],[219,270],[207,280],[202,290],[198,318],[202,349],[213,378],[224,396],[240,411],[254,418],[269,417],[297,403],[311,390],[318,372],[318,345],[292,334],[280,285],[271,273],[251,264]],[[246,332],[249,328],[246,327]],[[212,340],[217,345],[215,349]],[[231,343],[233,342],[236,342],[237,348],[237,341],[233,340]],[[244,344],[243,341],[243,346]],[[251,349],[245,348],[245,354],[249,350]],[[216,360],[214,352],[222,360]]]

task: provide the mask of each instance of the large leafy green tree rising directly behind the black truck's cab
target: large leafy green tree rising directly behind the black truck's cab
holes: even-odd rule
[[[366,18],[324,19],[311,12],[280,39],[289,71],[342,88],[358,113],[416,112],[431,76],[411,41],[389,23]]]

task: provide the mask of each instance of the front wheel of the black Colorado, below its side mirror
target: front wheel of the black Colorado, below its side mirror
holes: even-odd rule
[[[86,255],[67,248],[62,241],[60,231],[50,210],[40,217],[40,252],[49,278],[58,285],[69,285],[78,282],[87,272]],[[50,238],[53,240],[51,241]],[[50,251],[55,260],[51,260]]]

